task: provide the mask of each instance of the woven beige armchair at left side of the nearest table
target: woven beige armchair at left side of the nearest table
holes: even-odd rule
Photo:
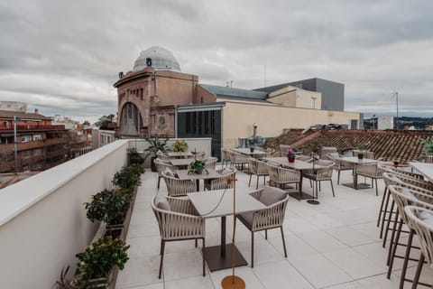
[[[164,260],[165,243],[201,239],[205,247],[205,219],[198,216],[198,212],[188,199],[152,198],[152,210],[158,221],[161,235],[161,261],[158,278],[161,279],[162,264]],[[206,275],[205,254],[203,254],[203,276]],[[188,257],[188,256],[187,256]]]

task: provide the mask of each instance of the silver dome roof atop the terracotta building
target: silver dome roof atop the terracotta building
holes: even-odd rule
[[[147,67],[146,59],[152,59],[152,68],[155,70],[175,70],[180,71],[180,64],[171,51],[160,46],[152,46],[140,53],[134,63],[133,71],[143,70]]]

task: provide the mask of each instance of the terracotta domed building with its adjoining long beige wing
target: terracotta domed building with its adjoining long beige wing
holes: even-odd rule
[[[359,113],[320,109],[319,91],[199,84],[198,76],[181,72],[173,54],[161,47],[142,51],[133,70],[119,74],[115,88],[117,136],[212,137],[213,155],[251,137],[253,124],[257,135],[274,137],[288,128],[331,123],[359,128],[361,123]]]

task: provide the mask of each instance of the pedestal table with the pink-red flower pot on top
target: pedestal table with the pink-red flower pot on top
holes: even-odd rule
[[[304,173],[311,171],[311,170],[318,170],[318,169],[324,169],[325,167],[323,165],[319,165],[317,163],[313,162],[304,162],[300,160],[296,160],[293,163],[289,162],[289,159],[285,156],[278,156],[278,157],[265,157],[263,158],[263,161],[269,162],[269,163],[275,163],[279,164],[282,167],[289,168],[292,170],[296,170],[300,172],[300,180],[299,180],[299,188],[298,192],[289,192],[290,197],[293,197],[297,200],[307,200],[307,199],[314,199],[312,195],[309,193],[302,191],[302,179],[304,178]]]

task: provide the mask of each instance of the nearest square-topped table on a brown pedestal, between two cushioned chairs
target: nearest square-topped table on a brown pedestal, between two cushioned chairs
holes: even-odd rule
[[[199,191],[188,193],[194,208],[202,218],[221,218],[221,241],[220,245],[203,247],[202,252],[207,266],[211,272],[232,267],[234,244],[226,243],[226,216],[234,213],[234,189]],[[266,206],[259,200],[254,199],[247,191],[236,190],[235,212],[244,213],[253,210],[262,210]],[[244,256],[235,247],[235,266],[246,266]]]

